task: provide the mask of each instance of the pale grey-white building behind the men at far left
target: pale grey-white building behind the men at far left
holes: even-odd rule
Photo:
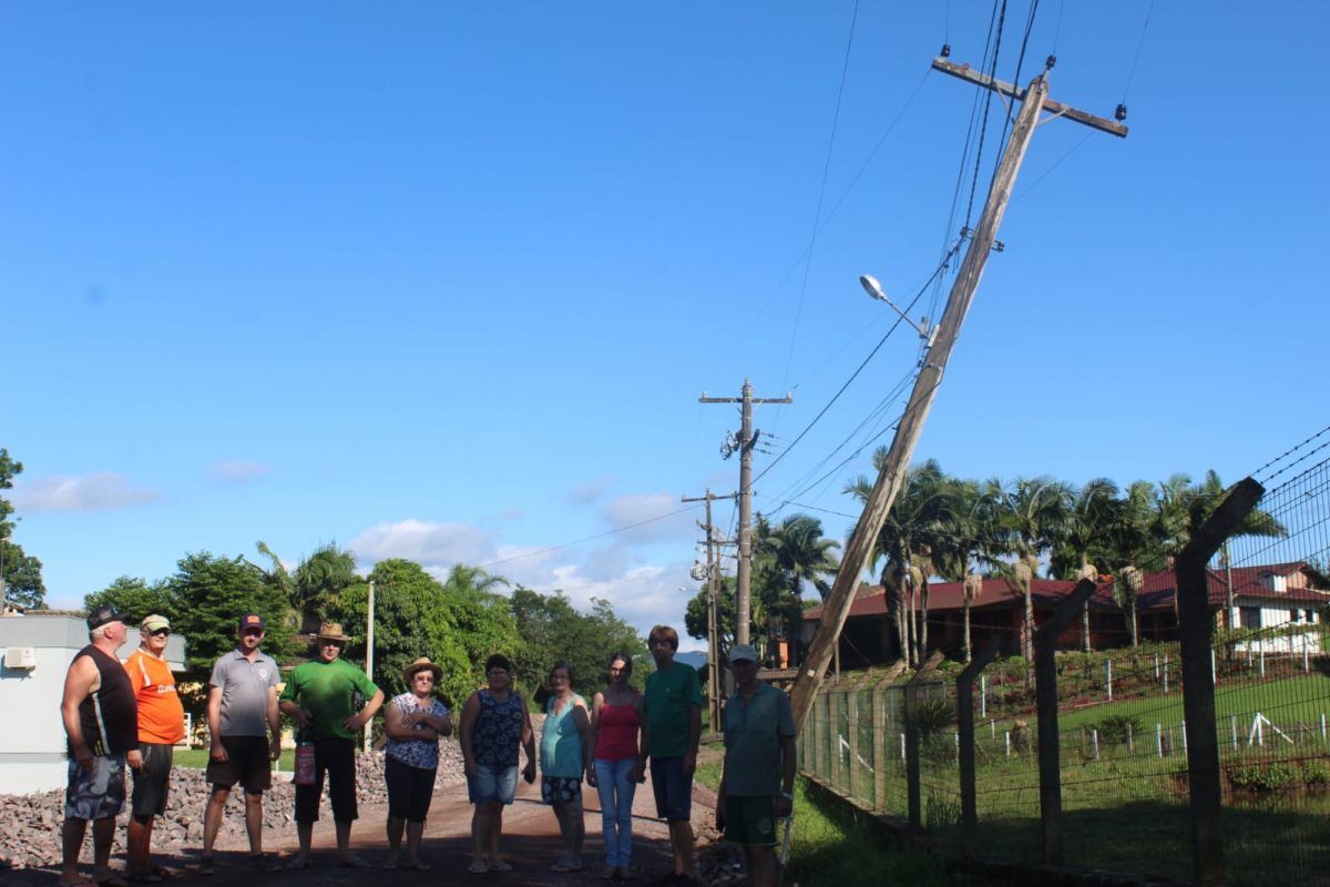
[[[0,618],[0,662],[9,648],[33,648],[33,669],[0,666],[0,794],[27,794],[64,787],[65,727],[60,697],[74,653],[88,645],[88,625],[70,616],[7,616]],[[121,660],[138,646],[130,630]],[[173,670],[185,668],[185,640],[166,646]]]

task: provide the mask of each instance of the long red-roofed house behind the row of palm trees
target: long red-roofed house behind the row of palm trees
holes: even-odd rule
[[[1136,608],[1140,640],[1177,640],[1176,581],[1173,570],[1145,576]],[[1269,653],[1298,652],[1297,642],[1302,640],[1307,626],[1330,618],[1330,578],[1306,563],[1212,568],[1206,573],[1206,585],[1210,610],[1218,625],[1267,629],[1252,642]],[[1041,625],[1075,586],[1071,581],[1035,578],[1031,582],[1035,625]],[[1230,588],[1232,608],[1228,606]],[[963,593],[960,582],[930,582],[930,649],[940,649],[948,656],[960,654]],[[1100,581],[1088,606],[1092,649],[1130,644],[1128,614],[1113,600],[1111,577]],[[814,606],[803,613],[801,640],[805,645],[813,638],[822,609]],[[1024,610],[1024,598],[1013,582],[986,578],[983,592],[970,605],[972,649],[983,648],[992,637],[1011,638],[1019,649]],[[1057,646],[1065,650],[1083,649],[1080,620],[1072,620],[1072,625],[1059,636]],[[861,585],[841,634],[842,665],[859,668],[891,662],[899,656],[898,648],[884,589],[880,585]]]

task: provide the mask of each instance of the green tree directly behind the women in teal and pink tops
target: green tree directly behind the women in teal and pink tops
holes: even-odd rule
[[[595,693],[604,685],[605,657],[614,650],[633,658],[633,682],[644,685],[646,645],[609,601],[592,598],[591,610],[584,613],[563,592],[541,594],[519,585],[511,606],[523,640],[513,666],[525,686],[541,686],[549,668],[565,660],[573,666],[575,689],[584,696]],[[539,696],[543,699],[545,694]]]

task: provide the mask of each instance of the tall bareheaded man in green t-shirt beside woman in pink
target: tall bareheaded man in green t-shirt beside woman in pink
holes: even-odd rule
[[[693,771],[697,769],[697,742],[702,735],[702,685],[697,670],[674,661],[678,632],[657,625],[646,638],[656,660],[656,672],[646,677],[642,714],[646,737],[642,761],[652,759],[652,790],[656,815],[669,822],[674,851],[674,879],[692,880],[693,874]]]

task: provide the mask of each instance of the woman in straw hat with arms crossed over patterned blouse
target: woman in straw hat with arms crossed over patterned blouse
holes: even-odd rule
[[[388,783],[388,862],[384,868],[398,867],[406,824],[406,867],[430,870],[420,862],[420,835],[439,770],[439,737],[452,733],[448,706],[434,694],[442,678],[443,669],[422,656],[402,672],[410,689],[388,705],[383,730],[388,737],[383,765],[383,778]]]

